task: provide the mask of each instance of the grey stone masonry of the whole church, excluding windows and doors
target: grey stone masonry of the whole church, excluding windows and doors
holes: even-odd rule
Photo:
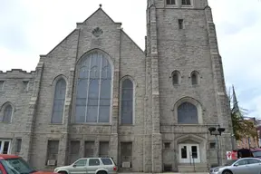
[[[48,140],[59,140],[58,166],[68,164],[71,140],[80,140],[79,158],[84,154],[84,141],[95,143],[94,155],[99,155],[99,142],[110,142],[110,156],[118,166],[121,162],[121,142],[132,142],[132,171],[161,172],[163,164],[179,169],[179,143],[200,144],[201,162],[216,163],[216,154],[209,148],[214,137],[208,127],[219,123],[226,128],[221,138],[222,158],[230,149],[231,120],[225,95],[225,82],[215,24],[207,0],[194,0],[192,6],[166,6],[163,0],[148,1],[146,54],[115,23],[102,8],[84,22],[78,23],[71,34],[41,55],[36,71],[0,72],[5,81],[0,91],[1,107],[5,102],[14,106],[12,123],[0,122],[0,139],[22,138],[18,155],[38,169],[46,166]],[[183,29],[178,20],[183,19]],[[96,37],[97,27],[102,34]],[[92,50],[110,57],[113,70],[111,123],[75,124],[75,94],[77,63]],[[179,71],[181,81],[173,85],[171,73]],[[199,83],[191,84],[190,73],[199,73]],[[121,80],[134,83],[134,125],[121,125]],[[67,83],[62,124],[52,124],[55,82]],[[23,90],[23,81],[29,81]],[[200,125],[179,125],[179,102],[194,102],[198,107]],[[170,149],[164,149],[170,142]],[[227,143],[229,142],[229,143]],[[12,153],[15,149],[12,149]],[[205,154],[207,152],[207,154]],[[224,158],[223,158],[224,160]]]

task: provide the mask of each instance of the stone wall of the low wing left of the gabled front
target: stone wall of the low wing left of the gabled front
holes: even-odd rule
[[[0,81],[4,81],[4,88],[0,91],[0,120],[4,116],[4,104],[9,102],[13,106],[10,123],[0,121],[0,139],[12,140],[11,152],[26,158],[26,122],[27,109],[34,88],[34,72],[27,73],[20,69],[13,69],[3,73],[0,71]],[[28,82],[25,86],[24,82]],[[20,152],[16,152],[16,139],[22,139]]]

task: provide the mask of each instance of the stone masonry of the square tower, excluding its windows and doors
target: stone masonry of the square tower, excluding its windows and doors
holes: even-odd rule
[[[209,16],[205,13],[205,8],[208,8],[208,2],[194,0],[191,1],[191,6],[181,5],[180,1],[177,5],[166,5],[165,1],[160,0],[154,2],[157,10],[160,125],[163,141],[169,140],[169,142],[175,143],[179,139],[176,135],[180,133],[195,136],[188,137],[188,140],[197,141],[197,137],[203,136],[204,144],[201,148],[208,150],[209,141],[213,141],[213,137],[209,136],[208,127],[217,126],[219,123],[228,131],[230,128],[226,99],[219,96],[221,92],[225,93],[224,83],[222,83],[224,75],[220,58],[212,55],[212,50],[218,48],[218,43],[215,43],[217,35],[211,33],[213,29],[207,23]],[[182,29],[179,28],[179,19],[183,19]],[[150,36],[151,41],[153,35]],[[175,70],[181,74],[179,85],[172,84],[171,73]],[[190,75],[193,71],[199,73],[198,85],[191,84]],[[179,100],[198,102],[197,108],[200,110],[198,117],[202,117],[199,123],[204,125],[204,131],[200,132],[198,125],[188,127],[178,124],[175,104]],[[198,133],[202,135],[198,135]],[[230,142],[227,136],[229,137],[229,135],[223,135],[224,139]],[[224,143],[225,140],[222,142]],[[222,158],[225,157],[224,151],[229,150],[228,147],[229,145],[227,147],[223,145]],[[179,147],[174,147],[174,149],[179,150]],[[164,151],[164,154],[171,156],[171,152],[168,151]],[[211,154],[204,158],[201,162],[207,162],[207,158],[209,163],[215,161],[216,157]],[[179,165],[179,156],[178,158],[171,157],[171,159]]]

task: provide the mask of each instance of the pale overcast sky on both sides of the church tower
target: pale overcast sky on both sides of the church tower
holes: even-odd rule
[[[127,4],[128,2],[128,4]],[[0,0],[0,70],[33,71],[40,54],[70,34],[99,4],[144,49],[146,0]],[[227,87],[261,118],[261,0],[208,0],[217,27]]]

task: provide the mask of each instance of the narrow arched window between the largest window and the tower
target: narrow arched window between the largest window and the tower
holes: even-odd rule
[[[133,83],[125,79],[121,85],[121,124],[133,124]]]

